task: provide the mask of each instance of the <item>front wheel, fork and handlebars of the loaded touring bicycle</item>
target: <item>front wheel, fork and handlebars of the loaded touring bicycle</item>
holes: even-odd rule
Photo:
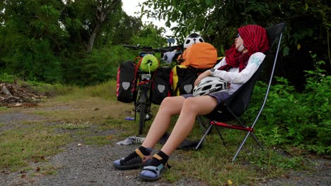
[[[168,48],[163,49],[153,49],[151,46],[133,46],[124,44],[126,48],[139,50],[139,56],[134,58],[134,62],[139,63],[139,61],[144,58],[147,54],[154,55],[154,52],[165,52],[170,51]],[[136,88],[134,89],[135,101],[134,101],[134,120],[136,120],[137,112],[139,113],[139,135],[142,134],[145,126],[146,120],[151,120],[153,114],[151,112],[151,97],[152,97],[152,85],[153,85],[153,75],[154,71],[146,72],[139,70],[139,66],[136,69]]]

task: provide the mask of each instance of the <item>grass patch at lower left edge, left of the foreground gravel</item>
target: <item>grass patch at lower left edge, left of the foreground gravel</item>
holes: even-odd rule
[[[62,151],[61,147],[69,140],[68,135],[59,135],[47,128],[21,128],[2,132],[0,169],[16,171],[28,166],[29,161],[45,161],[46,156]]]

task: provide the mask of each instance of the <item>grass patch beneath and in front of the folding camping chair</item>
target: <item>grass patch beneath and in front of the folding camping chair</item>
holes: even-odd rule
[[[228,135],[232,134],[225,132],[223,135],[228,139]],[[169,163],[173,168],[165,173],[163,179],[171,182],[185,176],[204,180],[208,185],[227,185],[228,182],[233,185],[254,185],[258,179],[273,178],[289,169],[303,168],[302,158],[287,158],[272,149],[261,151],[252,142],[245,145],[236,163],[232,163],[231,159],[238,148],[238,139],[243,139],[243,136],[237,135],[236,140],[228,141],[224,147],[216,132],[211,133],[204,141],[204,148],[198,151],[180,151],[180,159],[170,159]]]

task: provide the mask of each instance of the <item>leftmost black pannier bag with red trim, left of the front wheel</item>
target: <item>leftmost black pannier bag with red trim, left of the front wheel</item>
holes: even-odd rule
[[[117,101],[131,103],[134,101],[134,83],[136,66],[134,61],[124,61],[117,70]]]

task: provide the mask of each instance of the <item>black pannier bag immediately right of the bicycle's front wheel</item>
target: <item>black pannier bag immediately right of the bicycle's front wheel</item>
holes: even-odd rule
[[[168,66],[160,67],[156,70],[153,79],[153,104],[161,104],[165,97],[170,97],[173,90],[170,82],[171,68]]]

